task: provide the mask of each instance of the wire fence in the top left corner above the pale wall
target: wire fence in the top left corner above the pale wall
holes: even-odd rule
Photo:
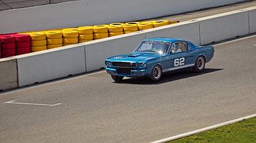
[[[78,0],[0,0],[0,11]]]

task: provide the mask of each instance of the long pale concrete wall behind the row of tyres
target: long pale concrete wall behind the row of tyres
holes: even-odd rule
[[[0,33],[137,21],[247,0],[82,0],[0,12]]]

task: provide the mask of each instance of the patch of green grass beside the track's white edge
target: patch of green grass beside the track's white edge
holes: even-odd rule
[[[177,139],[169,143],[193,142],[256,142],[256,118],[242,120],[232,125],[218,127],[197,135]]]

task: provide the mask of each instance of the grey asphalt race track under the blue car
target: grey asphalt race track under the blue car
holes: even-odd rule
[[[100,71],[2,93],[0,142],[151,142],[255,114],[255,54],[252,36],[215,45],[200,74],[117,84]]]

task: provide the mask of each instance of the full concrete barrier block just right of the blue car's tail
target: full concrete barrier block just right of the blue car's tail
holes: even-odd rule
[[[248,12],[200,18],[201,45],[249,34]]]

